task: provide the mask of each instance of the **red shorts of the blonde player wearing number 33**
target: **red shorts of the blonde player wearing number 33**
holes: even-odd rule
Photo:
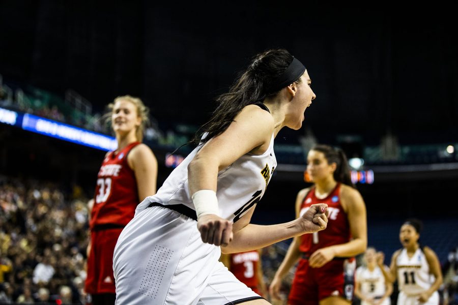
[[[116,293],[113,277],[113,252],[123,228],[91,232],[91,252],[88,257],[88,276],[84,284],[87,293]]]

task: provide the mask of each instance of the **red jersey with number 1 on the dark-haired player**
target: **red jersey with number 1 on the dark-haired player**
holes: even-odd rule
[[[302,201],[300,215],[302,216],[310,205],[316,203],[326,203],[328,205],[328,225],[325,230],[301,236],[299,250],[306,256],[312,255],[313,252],[321,248],[349,242],[351,238],[347,213],[340,204],[340,183],[337,183],[334,190],[323,199],[317,198],[315,188],[312,187]]]

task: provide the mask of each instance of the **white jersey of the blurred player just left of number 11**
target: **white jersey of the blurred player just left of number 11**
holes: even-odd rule
[[[358,267],[356,281],[360,283],[361,293],[367,297],[381,297],[385,294],[385,278],[378,266],[373,271],[366,266]]]

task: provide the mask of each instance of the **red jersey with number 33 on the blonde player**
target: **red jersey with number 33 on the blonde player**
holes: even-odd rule
[[[137,180],[127,164],[130,150],[140,144],[133,142],[115,154],[110,151],[97,175],[90,228],[98,225],[125,226],[133,218],[139,203]]]

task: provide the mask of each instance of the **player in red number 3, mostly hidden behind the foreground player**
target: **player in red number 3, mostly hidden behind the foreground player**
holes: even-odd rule
[[[261,262],[261,249],[247,252],[221,254],[220,261],[240,282],[257,294],[267,297]]]

